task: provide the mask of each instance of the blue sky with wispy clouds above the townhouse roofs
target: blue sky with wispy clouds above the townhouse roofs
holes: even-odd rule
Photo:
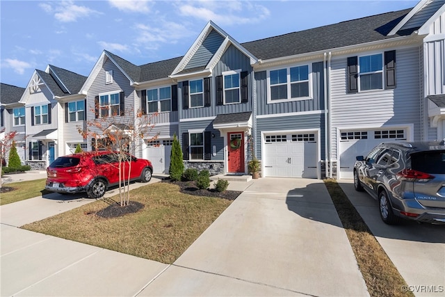
[[[412,8],[419,1],[0,1],[0,81],[48,64],[88,76],[104,49],[135,65],[183,56],[209,20],[238,42]]]

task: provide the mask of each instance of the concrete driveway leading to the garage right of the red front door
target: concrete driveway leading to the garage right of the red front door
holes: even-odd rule
[[[369,296],[323,181],[255,181],[138,296]]]

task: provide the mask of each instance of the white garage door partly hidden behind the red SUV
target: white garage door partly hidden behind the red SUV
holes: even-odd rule
[[[143,158],[152,162],[153,173],[168,175],[172,142],[172,140],[163,140],[147,143],[147,147],[143,150]]]

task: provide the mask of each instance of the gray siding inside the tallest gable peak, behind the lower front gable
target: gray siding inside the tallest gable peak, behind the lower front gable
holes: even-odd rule
[[[223,41],[224,37],[215,30],[212,30],[184,69],[203,67],[207,65]]]

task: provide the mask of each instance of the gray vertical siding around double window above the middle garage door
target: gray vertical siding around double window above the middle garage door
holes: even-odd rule
[[[289,102],[268,104],[267,71],[255,72],[255,80],[257,83],[257,115],[324,110],[323,73],[323,62],[312,63],[312,99],[289,100]]]

